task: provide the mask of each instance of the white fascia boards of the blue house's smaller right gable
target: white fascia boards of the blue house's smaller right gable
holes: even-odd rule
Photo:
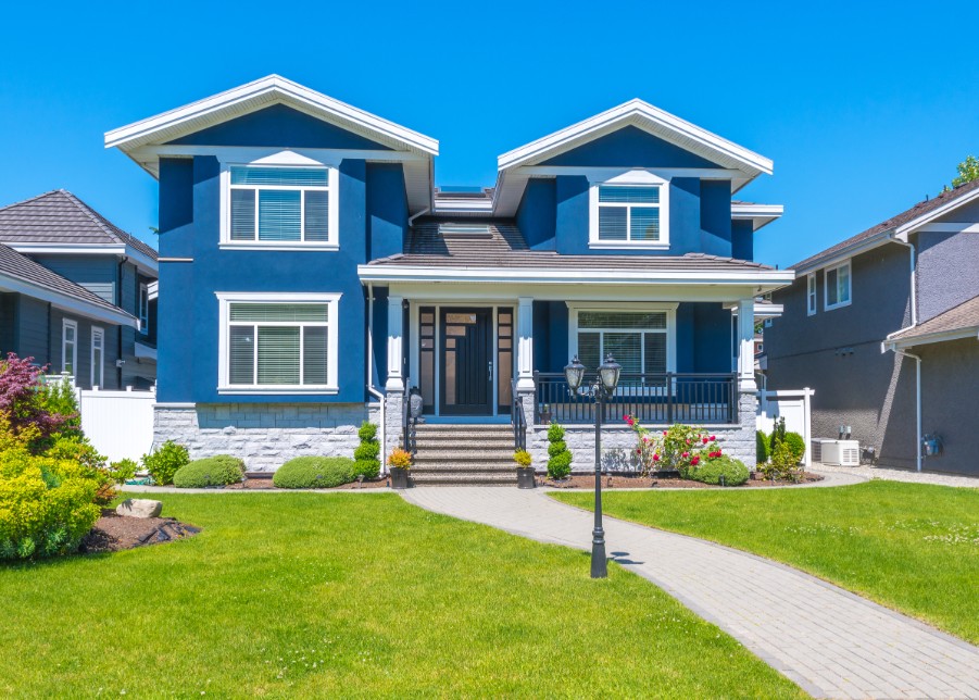
[[[583,122],[503,153],[497,159],[497,166],[499,170],[509,170],[517,165],[531,164],[629,124],[666,140],[688,142],[689,150],[695,149],[694,152],[700,150],[701,154],[710,154],[708,158],[720,157],[732,164],[737,163],[739,170],[743,168],[751,176],[760,173],[770,175],[773,172],[771,161],[764,155],[639,99],[629,100]]]

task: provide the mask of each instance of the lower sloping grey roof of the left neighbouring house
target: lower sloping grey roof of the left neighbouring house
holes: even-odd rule
[[[134,328],[139,325],[118,307],[3,243],[0,243],[0,290],[48,301],[89,318]]]

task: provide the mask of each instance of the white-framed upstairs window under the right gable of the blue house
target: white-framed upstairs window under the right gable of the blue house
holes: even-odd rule
[[[669,182],[648,171],[632,171],[592,183],[590,248],[669,247]]]

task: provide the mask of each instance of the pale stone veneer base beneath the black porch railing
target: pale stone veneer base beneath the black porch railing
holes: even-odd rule
[[[739,425],[707,425],[705,428],[717,436],[726,454],[741,460],[753,470],[755,459],[755,415],[757,396],[742,392],[738,403]],[[594,426],[565,425],[565,442],[572,451],[575,473],[594,471]],[[606,423],[602,427],[602,467],[612,472],[631,472],[638,466],[636,458],[636,434],[622,421]],[[534,458],[538,472],[548,467],[548,426],[535,426],[527,436],[527,449]]]

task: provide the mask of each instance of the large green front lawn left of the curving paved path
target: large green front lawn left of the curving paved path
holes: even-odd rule
[[[801,697],[645,580],[394,495],[165,495],[203,532],[0,565],[0,693]]]

